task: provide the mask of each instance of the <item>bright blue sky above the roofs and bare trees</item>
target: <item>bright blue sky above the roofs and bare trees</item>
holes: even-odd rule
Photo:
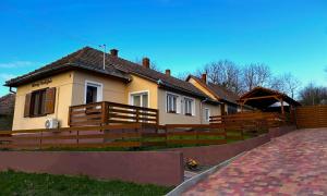
[[[0,84],[106,44],[173,74],[229,59],[327,86],[326,0],[1,0],[0,24]]]

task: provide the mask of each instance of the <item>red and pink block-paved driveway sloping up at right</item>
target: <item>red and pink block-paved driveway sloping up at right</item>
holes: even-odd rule
[[[327,195],[327,128],[278,137],[183,195]]]

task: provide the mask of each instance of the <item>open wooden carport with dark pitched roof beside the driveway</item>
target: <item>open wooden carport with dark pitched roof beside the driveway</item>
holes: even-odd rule
[[[290,98],[288,95],[264,87],[253,88],[251,91],[244,94],[239,100],[242,112],[245,105],[262,111],[267,111],[268,108],[276,102],[280,102],[280,112],[282,114],[286,112],[284,102],[290,107],[290,112],[292,112],[293,108],[301,106],[300,102]]]

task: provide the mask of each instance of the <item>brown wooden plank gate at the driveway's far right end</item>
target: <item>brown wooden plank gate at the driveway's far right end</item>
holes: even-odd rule
[[[299,128],[327,127],[327,106],[305,106],[296,108]]]

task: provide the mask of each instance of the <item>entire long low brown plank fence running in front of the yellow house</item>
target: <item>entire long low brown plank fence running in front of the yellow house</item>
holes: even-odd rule
[[[0,132],[0,148],[179,147],[219,145],[246,137],[249,135],[243,126],[231,124],[169,124],[161,126],[131,123]]]

